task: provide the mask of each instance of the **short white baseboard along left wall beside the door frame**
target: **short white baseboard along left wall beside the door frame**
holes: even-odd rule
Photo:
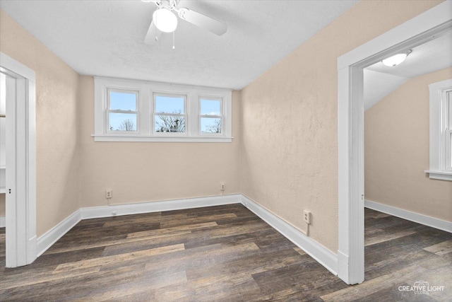
[[[44,235],[37,238],[37,257],[40,257],[40,255],[54,245],[59,238],[63,237],[64,234],[71,230],[71,228],[76,226],[79,221],[81,221],[80,209],[73,212],[73,214],[66,217],[66,219],[44,233]]]

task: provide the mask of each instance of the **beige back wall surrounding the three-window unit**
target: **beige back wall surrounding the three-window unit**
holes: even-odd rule
[[[94,142],[94,80],[81,77],[81,207],[239,193],[239,93],[232,94],[232,143]],[[237,201],[238,202],[238,201]]]

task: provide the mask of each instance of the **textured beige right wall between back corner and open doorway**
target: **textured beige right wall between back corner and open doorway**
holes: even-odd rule
[[[441,1],[361,1],[242,91],[241,192],[338,248],[340,55]]]

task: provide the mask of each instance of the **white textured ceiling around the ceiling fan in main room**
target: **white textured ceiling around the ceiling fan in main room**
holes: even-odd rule
[[[187,1],[228,25],[217,36],[179,19],[156,46],[143,43],[153,2],[13,1],[0,8],[79,74],[241,89],[357,1]]]

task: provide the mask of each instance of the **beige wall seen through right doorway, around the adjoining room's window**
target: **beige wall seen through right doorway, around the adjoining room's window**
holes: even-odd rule
[[[452,182],[430,180],[429,84],[452,68],[407,81],[364,114],[365,196],[373,202],[452,221]]]

